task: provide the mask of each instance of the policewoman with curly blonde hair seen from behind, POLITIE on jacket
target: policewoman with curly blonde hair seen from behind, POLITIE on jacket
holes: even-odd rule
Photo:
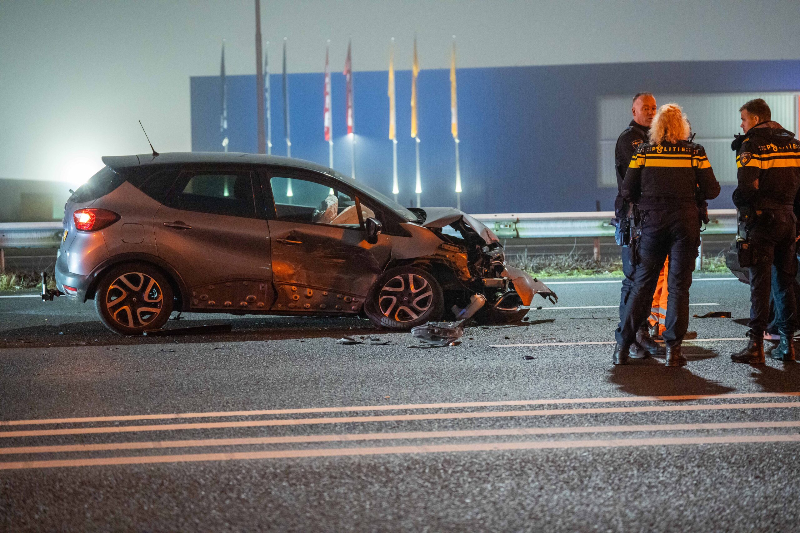
[[[683,366],[681,343],[689,326],[689,288],[700,244],[698,198],[719,194],[719,183],[678,104],[662,105],[650,126],[650,142],[630,160],[620,193],[642,213],[633,287],[616,331],[614,364],[626,364],[639,324],[650,311],[658,273],[669,258],[665,329],[666,366]]]

